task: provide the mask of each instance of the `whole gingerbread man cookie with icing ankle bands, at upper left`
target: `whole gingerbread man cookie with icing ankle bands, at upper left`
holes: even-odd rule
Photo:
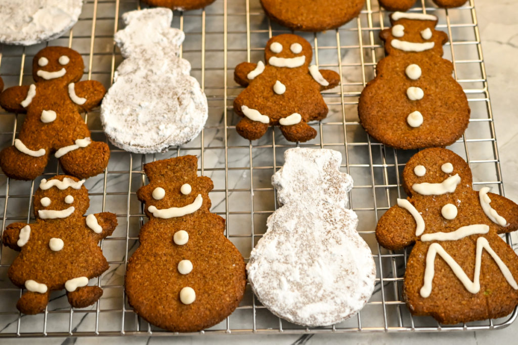
[[[33,59],[35,84],[13,86],[0,95],[0,106],[27,113],[15,145],[0,153],[4,173],[16,179],[34,179],[47,166],[49,156],[59,159],[63,170],[79,178],[101,173],[110,151],[90,138],[79,111],[98,106],[106,89],[83,75],[81,55],[65,47],[47,47]]]

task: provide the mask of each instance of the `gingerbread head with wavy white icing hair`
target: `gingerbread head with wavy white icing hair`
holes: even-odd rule
[[[34,195],[34,213],[39,219],[81,217],[90,205],[84,179],[57,175],[42,179]]]

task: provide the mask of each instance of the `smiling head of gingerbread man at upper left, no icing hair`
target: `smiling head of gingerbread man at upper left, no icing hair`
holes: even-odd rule
[[[81,79],[83,68],[83,58],[78,52],[66,47],[47,47],[34,56],[33,78],[36,82],[76,82]]]

